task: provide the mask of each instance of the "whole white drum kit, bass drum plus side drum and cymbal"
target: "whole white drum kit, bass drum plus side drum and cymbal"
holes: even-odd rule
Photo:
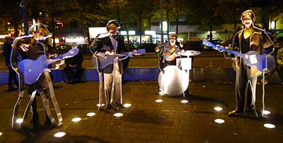
[[[191,56],[200,55],[199,51],[186,50],[181,51],[181,56],[177,58],[177,63],[180,63],[179,69],[175,65],[165,67],[158,76],[158,85],[163,90],[163,94],[168,96],[179,96],[189,86],[190,69],[192,69]]]

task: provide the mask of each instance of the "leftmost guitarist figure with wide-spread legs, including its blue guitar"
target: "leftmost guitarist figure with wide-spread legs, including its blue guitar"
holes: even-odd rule
[[[57,127],[62,125],[62,115],[59,110],[57,99],[54,96],[54,89],[50,78],[50,70],[47,69],[48,64],[56,62],[61,58],[67,58],[76,55],[76,50],[69,51],[66,55],[61,55],[54,59],[46,59],[45,47],[42,42],[46,38],[50,38],[50,33],[41,23],[35,23],[30,26],[30,35],[21,36],[16,38],[13,42],[13,50],[11,53],[11,63],[13,69],[17,71],[20,85],[18,100],[13,108],[12,128],[13,130],[21,130],[25,124],[25,119],[28,116],[30,105],[35,99],[35,94],[39,93],[45,108],[45,125],[47,127]],[[79,49],[78,49],[79,50]],[[18,59],[15,61],[13,59]],[[25,95],[25,88],[27,88],[30,100],[23,113],[23,118],[19,116],[18,108]],[[50,98],[57,113],[57,124],[50,110]],[[36,103],[32,105],[33,108],[33,123],[37,125],[38,114],[36,110]]]

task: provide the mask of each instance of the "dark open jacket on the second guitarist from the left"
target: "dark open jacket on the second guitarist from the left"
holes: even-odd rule
[[[112,42],[110,40],[110,35],[108,35],[104,38],[98,38],[97,45],[98,46],[96,47],[95,54],[98,54],[98,53],[105,54],[106,51],[110,51],[110,50],[114,49]],[[116,54],[122,54],[124,52],[127,52],[126,49],[125,49],[124,40],[122,38],[120,38],[119,36],[117,36]],[[121,58],[122,57],[119,57],[119,59],[121,59]],[[123,74],[123,62],[118,60],[118,65],[119,65],[120,74]],[[103,68],[103,73],[105,73],[105,74],[111,74],[112,71],[113,71],[113,64],[109,64],[108,66]]]

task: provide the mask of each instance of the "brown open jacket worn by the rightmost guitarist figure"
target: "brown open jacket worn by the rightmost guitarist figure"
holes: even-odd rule
[[[237,45],[236,49],[235,46],[233,50],[236,50],[240,53],[242,53],[242,44],[241,44],[241,39],[243,38],[243,31],[245,28],[240,28],[236,35],[234,36],[234,44]],[[270,39],[269,35],[265,34],[265,31],[262,30],[261,28],[253,27],[253,33],[250,35],[250,50],[249,51],[255,51],[258,52],[259,55],[262,55],[263,49],[272,47],[273,42]],[[237,58],[235,60],[234,67],[236,69],[241,69],[241,62],[243,59],[242,58]]]

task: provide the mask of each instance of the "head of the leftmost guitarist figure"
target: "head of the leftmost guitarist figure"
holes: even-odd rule
[[[40,39],[47,35],[50,35],[48,29],[42,23],[35,23],[31,25],[28,33],[30,35],[34,35],[35,39]]]

